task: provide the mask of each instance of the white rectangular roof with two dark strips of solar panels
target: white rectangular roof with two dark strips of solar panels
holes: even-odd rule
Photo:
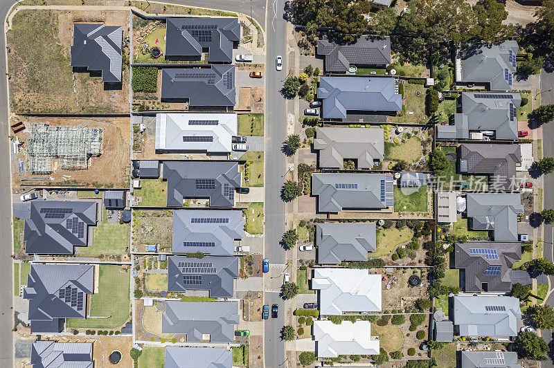
[[[157,113],[156,150],[231,152],[236,113]]]

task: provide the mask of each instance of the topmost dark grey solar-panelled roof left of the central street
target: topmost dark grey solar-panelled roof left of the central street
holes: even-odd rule
[[[238,18],[166,18],[166,55],[200,59],[209,49],[209,62],[231,62],[233,44],[240,41]]]

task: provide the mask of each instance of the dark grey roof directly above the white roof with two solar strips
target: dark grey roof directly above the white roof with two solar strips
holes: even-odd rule
[[[188,99],[190,107],[235,106],[235,66],[163,68],[161,99],[170,102]]]

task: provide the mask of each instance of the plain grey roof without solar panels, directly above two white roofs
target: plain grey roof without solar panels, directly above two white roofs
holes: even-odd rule
[[[319,264],[367,261],[375,252],[375,223],[318,223],[316,245]]]

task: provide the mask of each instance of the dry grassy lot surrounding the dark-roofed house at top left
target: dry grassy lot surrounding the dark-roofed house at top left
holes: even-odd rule
[[[129,35],[128,12],[91,10],[17,12],[13,18],[12,29],[7,35],[12,111],[17,113],[125,113],[129,111],[128,66],[124,66],[123,83],[114,87],[105,85],[100,76],[73,73],[70,48],[73,43],[75,22],[122,26],[123,37]],[[128,54],[128,46],[124,46],[123,51]]]

